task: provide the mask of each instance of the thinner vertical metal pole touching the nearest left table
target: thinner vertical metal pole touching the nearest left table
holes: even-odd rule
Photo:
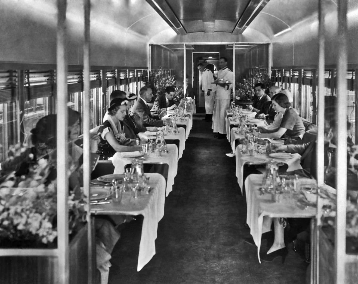
[[[89,50],[90,50],[90,13],[91,0],[83,0],[84,8],[84,43],[83,43],[83,193],[89,196],[89,182],[91,179],[91,163],[90,163],[90,143],[89,143]],[[88,263],[88,281],[92,283],[92,222],[91,208],[89,202],[86,204],[87,212],[87,263]]]

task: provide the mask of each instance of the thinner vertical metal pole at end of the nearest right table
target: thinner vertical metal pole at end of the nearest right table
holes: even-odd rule
[[[318,188],[323,187],[324,185],[324,64],[325,64],[325,23],[324,23],[324,0],[318,1],[318,92],[317,92],[317,147],[316,147],[316,173],[317,173],[317,185]],[[311,254],[314,254],[311,259],[311,266],[313,268],[313,278],[311,283],[318,283],[319,279],[319,220],[321,215],[321,204],[320,198],[317,196],[317,217],[316,217],[316,228],[314,231],[311,231],[311,234],[314,235],[314,242],[311,244]]]

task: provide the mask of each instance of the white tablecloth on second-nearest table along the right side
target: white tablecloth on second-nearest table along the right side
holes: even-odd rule
[[[250,157],[250,155],[241,153],[241,149],[242,149],[242,145],[238,145],[236,147],[235,158],[236,158],[237,183],[239,184],[241,193],[242,193],[243,169],[244,169],[244,165],[249,163],[248,161],[245,160],[245,158]],[[301,164],[300,164],[301,155],[300,154],[292,154],[292,155],[293,155],[293,158],[291,158],[291,159],[273,159],[273,160],[286,163],[289,166],[287,168],[288,172],[290,172],[292,170],[302,169]],[[258,159],[258,162],[257,162],[258,165],[265,164],[266,162],[269,162],[270,159],[272,159],[267,154],[256,154],[254,157],[250,157],[249,159],[252,159],[252,158]],[[261,161],[262,159],[265,159],[266,162]],[[253,162],[253,164],[256,164],[256,163]],[[245,183],[245,185],[246,185],[246,183]]]

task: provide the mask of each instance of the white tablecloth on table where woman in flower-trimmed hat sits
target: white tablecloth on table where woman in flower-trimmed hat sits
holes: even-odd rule
[[[174,144],[167,145],[169,153],[163,154],[161,157],[156,157],[155,153],[151,153],[143,161],[143,163],[166,163],[169,165],[168,180],[166,183],[166,196],[173,190],[174,178],[178,171],[178,147]],[[111,158],[114,165],[113,174],[124,173],[124,166],[132,163],[132,159],[121,157],[121,153],[116,153]]]

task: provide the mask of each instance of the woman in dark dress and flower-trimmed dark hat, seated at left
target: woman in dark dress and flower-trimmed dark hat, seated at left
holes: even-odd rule
[[[141,150],[138,139],[126,137],[126,132],[129,130],[126,129],[123,120],[126,116],[127,104],[128,100],[125,98],[113,99],[108,108],[108,119],[98,129],[100,143],[97,154],[102,160],[112,157],[116,152]]]

